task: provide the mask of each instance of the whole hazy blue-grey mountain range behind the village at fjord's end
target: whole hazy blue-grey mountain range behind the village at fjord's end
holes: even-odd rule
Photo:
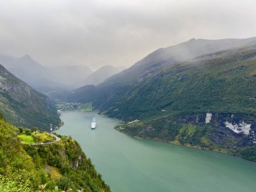
[[[21,58],[0,55],[0,63],[8,71],[44,94],[74,90],[88,84],[96,85],[125,69],[109,65],[97,71],[92,71],[84,65],[44,67],[29,55]]]

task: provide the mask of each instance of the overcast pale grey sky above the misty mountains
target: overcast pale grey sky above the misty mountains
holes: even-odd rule
[[[256,36],[255,18],[255,0],[0,0],[0,55],[129,67],[190,38]]]

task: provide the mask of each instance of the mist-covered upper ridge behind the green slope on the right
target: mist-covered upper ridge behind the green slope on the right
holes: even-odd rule
[[[256,37],[224,40],[191,39],[187,42],[169,46],[165,49],[161,48],[150,53],[150,55],[141,59],[129,69],[108,79],[102,86],[133,84],[133,82],[142,81],[144,77],[147,78],[150,75],[154,75],[154,73],[162,70],[165,66],[189,60],[200,61],[221,57],[241,47],[249,46],[253,48],[255,44]]]

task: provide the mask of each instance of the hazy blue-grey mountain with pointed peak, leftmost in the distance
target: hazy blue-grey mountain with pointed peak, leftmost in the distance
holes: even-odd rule
[[[56,79],[42,65],[34,61],[29,55],[21,58],[0,55],[0,63],[11,73],[38,90],[47,93],[53,90],[63,90],[63,84]]]

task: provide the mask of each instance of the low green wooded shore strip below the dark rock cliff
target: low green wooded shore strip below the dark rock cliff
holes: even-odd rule
[[[203,123],[184,124],[163,117],[143,121],[143,123],[123,123],[117,125],[115,129],[133,137],[157,139],[175,145],[214,150],[256,161],[256,147],[249,141],[247,135],[230,133],[232,131],[224,127],[213,127],[216,123],[218,119],[213,119],[212,123],[206,125]]]

